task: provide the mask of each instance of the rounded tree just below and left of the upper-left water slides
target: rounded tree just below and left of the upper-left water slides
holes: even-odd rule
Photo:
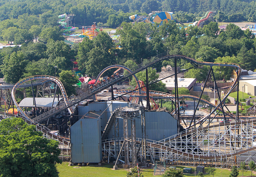
[[[53,39],[53,41],[62,41],[64,37],[62,36],[62,32],[58,26],[45,28],[39,34],[39,41],[48,42],[49,39]]]

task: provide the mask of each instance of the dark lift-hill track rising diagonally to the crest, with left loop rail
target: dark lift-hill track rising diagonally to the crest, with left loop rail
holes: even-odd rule
[[[128,73],[127,75],[125,75],[124,77],[116,77],[116,78],[112,78],[106,82],[102,82],[102,84],[98,84],[95,88],[87,91],[87,92],[84,92],[84,94],[82,94],[80,96],[80,98],[78,99],[75,99],[73,101],[70,101],[69,103],[67,103],[66,105],[60,105],[60,106],[57,106],[57,107],[54,107],[53,109],[37,116],[36,118],[33,119],[33,121],[35,122],[41,122],[42,120],[45,120],[65,109],[68,109],[70,107],[72,107],[73,105],[75,104],[78,104],[80,101],[83,101],[87,98],[89,98],[90,96],[93,96],[95,95],[96,93],[108,88],[109,86],[112,86],[124,79],[127,79],[128,77],[130,76],[133,76],[134,74],[146,69],[146,68],[149,68],[151,66],[153,66],[154,64],[157,64],[158,62],[160,61],[163,61],[163,60],[166,60],[166,59],[174,59],[174,58],[181,58],[181,59],[186,59],[188,62],[190,62],[193,66],[195,66],[196,68],[200,67],[200,66],[203,66],[203,65],[207,65],[207,66],[227,66],[227,67],[233,67],[233,68],[236,68],[239,70],[239,73],[238,75],[240,76],[240,73],[241,73],[241,68],[239,65],[237,64],[233,64],[233,63],[211,63],[211,62],[201,62],[201,61],[196,61],[195,59],[193,58],[189,58],[185,55],[182,55],[182,54],[177,54],[177,53],[174,53],[174,54],[167,54],[167,53],[162,53],[162,54],[159,54],[158,55],[158,58],[157,57],[153,57],[151,59],[149,59],[147,62],[144,62],[143,64],[139,64],[137,65],[135,68],[132,68],[132,72],[131,73]],[[37,78],[40,78],[42,76],[36,76]],[[52,77],[52,76],[47,76],[47,77]],[[54,77],[52,77],[54,78]],[[23,82],[26,82],[26,79],[30,79],[30,78],[25,78],[23,80],[20,80],[19,82],[16,83],[16,85],[21,85]],[[54,78],[56,79],[56,78]],[[236,81],[236,80],[235,80]],[[234,87],[234,83],[235,81],[233,82],[233,85],[231,86],[232,88]],[[231,89],[230,87],[230,89]],[[15,90],[16,90],[16,87],[14,87],[14,89],[12,89],[12,99],[15,100]],[[227,97],[227,96],[226,96]],[[225,99],[226,99],[225,97]],[[17,105],[16,105],[17,104]],[[18,107],[18,103],[16,102],[15,100],[15,105]],[[216,108],[215,108],[216,109]],[[20,112],[22,113],[23,111],[20,110]],[[22,114],[25,114],[24,112]],[[27,116],[25,116],[27,117]]]

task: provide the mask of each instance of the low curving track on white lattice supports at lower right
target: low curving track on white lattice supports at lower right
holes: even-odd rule
[[[252,144],[251,144],[251,146],[248,146],[248,147],[246,147],[246,146],[243,147],[241,145],[241,149],[240,150],[238,150],[238,149],[236,150],[236,148],[233,147],[233,148],[235,148],[235,149],[233,149],[233,151],[229,151],[229,152],[226,152],[226,153],[220,151],[219,153],[212,152],[211,154],[202,153],[202,152],[199,152],[199,154],[193,154],[193,153],[187,153],[187,152],[182,151],[181,147],[180,147],[180,150],[175,149],[174,145],[176,143],[182,143],[182,141],[181,141],[182,137],[185,137],[184,139],[187,139],[187,137],[191,136],[191,135],[193,135],[193,136],[194,135],[201,136],[201,135],[197,134],[199,131],[203,132],[204,130],[210,130],[210,128],[212,128],[212,130],[215,131],[215,129],[218,130],[218,127],[219,128],[220,127],[225,128],[225,127],[233,126],[235,128],[236,126],[239,126],[239,125],[240,126],[244,125],[244,124],[249,125],[249,124],[252,124],[252,123],[255,123],[255,122],[256,122],[256,119],[253,118],[251,120],[246,120],[246,121],[237,121],[237,122],[232,122],[232,123],[229,122],[229,123],[223,123],[223,124],[215,124],[215,125],[212,125],[212,126],[207,126],[207,127],[202,127],[202,128],[191,128],[191,129],[186,130],[185,132],[178,133],[176,135],[173,135],[173,136],[170,136],[168,138],[165,138],[165,139],[163,139],[161,141],[152,141],[152,140],[148,139],[147,140],[147,144],[150,147],[162,149],[162,150],[165,150],[165,151],[169,151],[171,153],[180,154],[180,155],[182,155],[184,157],[190,157],[190,158],[193,158],[193,159],[197,158],[197,159],[208,159],[209,160],[209,159],[229,158],[229,157],[233,157],[235,155],[239,155],[239,154],[243,154],[243,153],[248,152],[248,151],[255,150],[256,147],[253,147]],[[245,130],[246,130],[246,128],[244,129],[244,131]],[[247,131],[250,131],[250,130],[247,130]],[[255,133],[255,131],[254,131],[254,133]],[[239,136],[240,136],[238,134],[237,135],[234,134],[234,132],[231,132],[230,135],[235,136],[235,139],[236,138],[239,139]],[[218,136],[218,134],[215,134],[215,136]],[[220,134],[218,137],[222,137],[222,136]],[[254,134],[251,134],[251,136],[254,136]],[[193,139],[193,138],[191,138],[191,139]],[[219,138],[219,139],[221,139],[221,138]],[[172,141],[172,142],[170,142],[170,141]],[[235,140],[233,140],[233,141],[235,141]],[[241,141],[241,139],[240,139],[240,141]],[[120,142],[123,142],[123,141],[121,140]],[[170,143],[168,144],[168,142],[170,142]],[[139,144],[140,141],[136,141],[136,143]],[[191,143],[191,145],[189,145],[189,146],[194,146],[193,143],[196,143],[196,142],[190,142],[190,143]],[[110,146],[113,146],[113,144],[114,144],[114,141],[112,139],[111,140],[102,141],[102,147],[105,148],[105,149],[106,149],[106,146],[109,146],[109,148],[110,148]],[[229,145],[227,145],[226,147],[229,147]],[[216,148],[218,150],[218,147],[216,147]],[[232,146],[231,146],[231,149],[232,149]],[[202,153],[202,154],[200,154],[200,153]]]

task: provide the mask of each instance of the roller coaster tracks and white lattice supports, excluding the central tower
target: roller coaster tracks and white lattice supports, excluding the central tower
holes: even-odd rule
[[[58,140],[62,144],[62,146],[67,145],[68,147],[66,149],[68,149],[70,144],[67,138],[51,134],[50,130],[47,127],[42,126],[39,123],[42,122],[43,120],[50,118],[50,116],[53,116],[65,109],[69,109],[69,112],[71,113],[71,116],[72,116],[73,110],[71,109],[71,107],[73,105],[78,104],[80,101],[83,101],[89,98],[90,96],[93,96],[96,93],[110,86],[113,86],[114,84],[122,80],[125,80],[128,77],[135,76],[136,73],[142,70],[147,70],[147,68],[152,67],[154,64],[157,64],[158,62],[166,59],[174,59],[175,64],[177,59],[185,59],[193,65],[192,68],[202,68],[204,65],[210,66],[210,71],[208,73],[206,82],[211,72],[214,77],[212,66],[233,67],[235,70],[237,70],[237,76],[222,100],[221,100],[221,97],[219,96],[219,100],[221,101],[216,106],[209,103],[206,100],[201,99],[203,91],[200,97],[194,97],[189,95],[179,95],[176,89],[177,85],[175,86],[176,87],[175,95],[170,95],[163,92],[149,91],[148,85],[153,83],[148,83],[148,82],[146,83],[146,86],[138,86],[137,89],[132,91],[127,91],[127,90],[115,91],[114,92],[115,96],[112,95],[112,100],[117,99],[118,97],[129,96],[129,97],[146,97],[148,103],[150,99],[162,99],[162,98],[170,98],[174,101],[174,103],[178,103],[179,102],[178,100],[181,97],[184,97],[184,98],[187,97],[187,98],[192,98],[193,100],[203,101],[204,103],[209,104],[210,107],[213,108],[209,114],[207,114],[206,116],[203,116],[197,121],[195,118],[195,113],[196,113],[196,109],[195,109],[195,113],[191,123],[185,127],[184,131],[176,135],[173,135],[172,137],[165,138],[161,141],[144,139],[145,143],[147,144],[147,150],[144,149],[144,153],[143,153],[143,150],[140,150],[140,149],[143,149],[144,147],[143,146],[138,147],[139,143],[143,142],[143,140],[136,139],[136,143],[138,144],[137,146],[135,145],[137,149],[137,156],[138,155],[143,156],[144,159],[146,159],[147,156],[150,156],[151,160],[155,158],[158,158],[158,159],[164,158],[167,161],[172,161],[172,162],[182,161],[186,163],[189,161],[193,162],[195,161],[195,159],[197,159],[198,161],[215,160],[215,162],[221,163],[223,165],[224,163],[227,164],[227,163],[236,162],[237,159],[235,159],[234,161],[234,158],[237,158],[237,155],[239,154],[242,154],[251,150],[255,150],[256,147],[253,146],[254,144],[253,137],[255,136],[255,132],[256,132],[254,129],[254,123],[256,123],[256,119],[251,118],[249,120],[243,120],[239,118],[238,111],[236,116],[233,116],[230,113],[224,111],[223,109],[223,102],[225,102],[225,99],[227,98],[229,93],[236,86],[238,87],[238,84],[239,84],[239,76],[241,74],[241,68],[239,65],[233,64],[233,63],[201,62],[201,61],[196,61],[195,59],[189,58],[179,53],[172,53],[172,54],[162,53],[156,57],[149,59],[147,62],[139,64],[135,68],[128,70],[129,73],[125,76],[108,78],[105,81],[102,81],[101,83],[95,84],[95,86],[92,89],[90,89],[87,92],[84,92],[83,94],[80,94],[77,99],[72,101],[68,100],[65,93],[65,88],[63,87],[62,83],[57,78],[52,76],[32,76],[32,77],[22,79],[14,85],[11,95],[16,107],[19,108],[19,105],[15,100],[15,91],[17,88],[24,86],[27,81],[36,81],[38,79],[42,81],[51,80],[55,82],[59,86],[62,92],[62,95],[64,96],[65,105],[54,107],[51,110],[35,117],[34,119],[29,119],[26,113],[23,112],[22,109],[19,109],[20,114],[18,114],[18,116],[21,117],[27,123],[34,124],[37,127],[38,131],[42,131],[43,133],[48,135],[48,137]],[[112,67],[114,66],[110,66],[109,68],[112,68]],[[122,67],[122,66],[118,66],[118,67]],[[105,70],[103,70],[101,74],[105,72]],[[178,72],[176,70],[174,74],[176,79],[177,79],[177,73]],[[214,77],[214,81],[215,81],[215,85],[217,86],[215,77]],[[205,86],[206,84],[204,84],[203,90]],[[147,88],[146,91],[141,90],[144,87]],[[217,91],[218,91],[218,87],[217,87]],[[198,104],[199,104],[199,101],[198,101]],[[198,107],[198,104],[197,104],[197,107]],[[147,105],[150,105],[150,104],[147,104]],[[147,109],[150,110],[150,106],[148,106]],[[210,124],[211,121],[208,121],[208,125],[206,127],[203,127],[203,122],[206,122],[207,118],[210,118],[210,115],[216,110],[223,112],[224,113],[223,116],[225,119],[226,119],[226,116],[229,116],[234,120],[231,121],[229,124],[215,123],[213,125]],[[238,110],[238,103],[237,103],[237,110]],[[7,114],[4,112],[0,112],[0,114],[2,115],[2,118],[6,118],[8,116],[14,116],[12,114]],[[172,115],[173,116],[177,115],[178,120],[180,119],[179,109],[177,105],[176,105],[176,109],[172,112]],[[113,118],[110,117],[109,122],[113,122],[111,121],[111,119]],[[200,126],[196,127],[197,124],[200,124]],[[110,128],[111,128],[110,124],[109,126],[107,124],[105,130],[107,129],[109,130]],[[107,137],[106,134],[107,132],[105,132],[104,137],[102,137],[102,150],[105,156],[117,157],[117,154],[116,154],[117,151],[115,149],[116,140],[113,140],[113,139],[106,140],[105,139]],[[119,145],[121,145],[122,141],[123,140],[119,140]],[[119,153],[121,153],[121,151]]]

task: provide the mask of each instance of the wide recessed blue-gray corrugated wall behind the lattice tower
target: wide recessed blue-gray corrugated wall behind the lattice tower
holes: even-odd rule
[[[79,106],[79,115],[83,115],[88,111],[96,112],[101,114],[109,105],[111,101],[99,102],[99,103],[89,103],[88,106]],[[127,102],[113,101],[112,105],[109,106],[107,111],[101,115],[101,131],[104,130],[108,119],[110,118],[110,112],[114,111],[116,107],[121,105],[125,107],[128,105]],[[131,129],[129,123],[129,129]],[[119,132],[120,136],[123,137],[123,120],[119,120]],[[146,134],[148,139],[159,141],[163,137],[168,137],[177,133],[177,120],[175,120],[167,112],[146,112]],[[129,134],[131,132],[129,131]],[[110,131],[108,139],[113,138],[114,130]],[[136,120],[136,137],[141,138],[141,122],[140,119]]]

